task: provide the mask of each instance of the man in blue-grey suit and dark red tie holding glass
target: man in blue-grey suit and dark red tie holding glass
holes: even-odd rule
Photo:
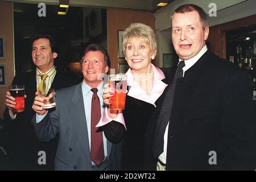
[[[59,133],[55,170],[118,170],[121,143],[110,143],[104,132],[93,125],[104,110],[101,76],[110,68],[108,53],[91,44],[85,49],[81,67],[84,80],[56,92],[55,111],[48,113],[43,109],[46,97],[36,93],[32,106],[36,112],[32,119],[36,135],[42,142],[48,142]]]

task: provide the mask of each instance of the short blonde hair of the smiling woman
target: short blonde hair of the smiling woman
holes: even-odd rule
[[[125,53],[128,39],[134,37],[141,38],[144,42],[149,43],[151,51],[156,49],[155,32],[152,28],[143,23],[131,23],[123,32],[123,53]]]

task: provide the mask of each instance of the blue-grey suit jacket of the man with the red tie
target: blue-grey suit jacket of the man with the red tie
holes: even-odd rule
[[[82,83],[56,92],[56,110],[47,114],[39,123],[33,118],[36,135],[48,142],[60,134],[55,158],[56,170],[94,170],[90,159],[90,148],[86,115],[82,97]],[[122,143],[107,141],[108,159],[98,170],[118,170],[121,162]]]

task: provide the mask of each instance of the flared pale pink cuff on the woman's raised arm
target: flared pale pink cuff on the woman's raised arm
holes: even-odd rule
[[[119,122],[123,126],[125,126],[125,118],[123,118],[123,113],[118,113],[117,117],[115,117],[114,119],[111,119],[111,118],[109,118],[108,107],[105,107],[102,117],[100,119],[100,122],[98,122],[96,127],[104,126],[104,125],[110,123],[111,121]],[[125,129],[126,129],[126,126],[125,126]]]

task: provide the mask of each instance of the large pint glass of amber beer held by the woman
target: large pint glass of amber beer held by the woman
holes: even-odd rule
[[[114,96],[109,98],[109,100],[112,101],[112,104],[110,104],[110,109],[125,109],[127,76],[122,74],[109,75],[109,84],[110,88],[115,89]]]

